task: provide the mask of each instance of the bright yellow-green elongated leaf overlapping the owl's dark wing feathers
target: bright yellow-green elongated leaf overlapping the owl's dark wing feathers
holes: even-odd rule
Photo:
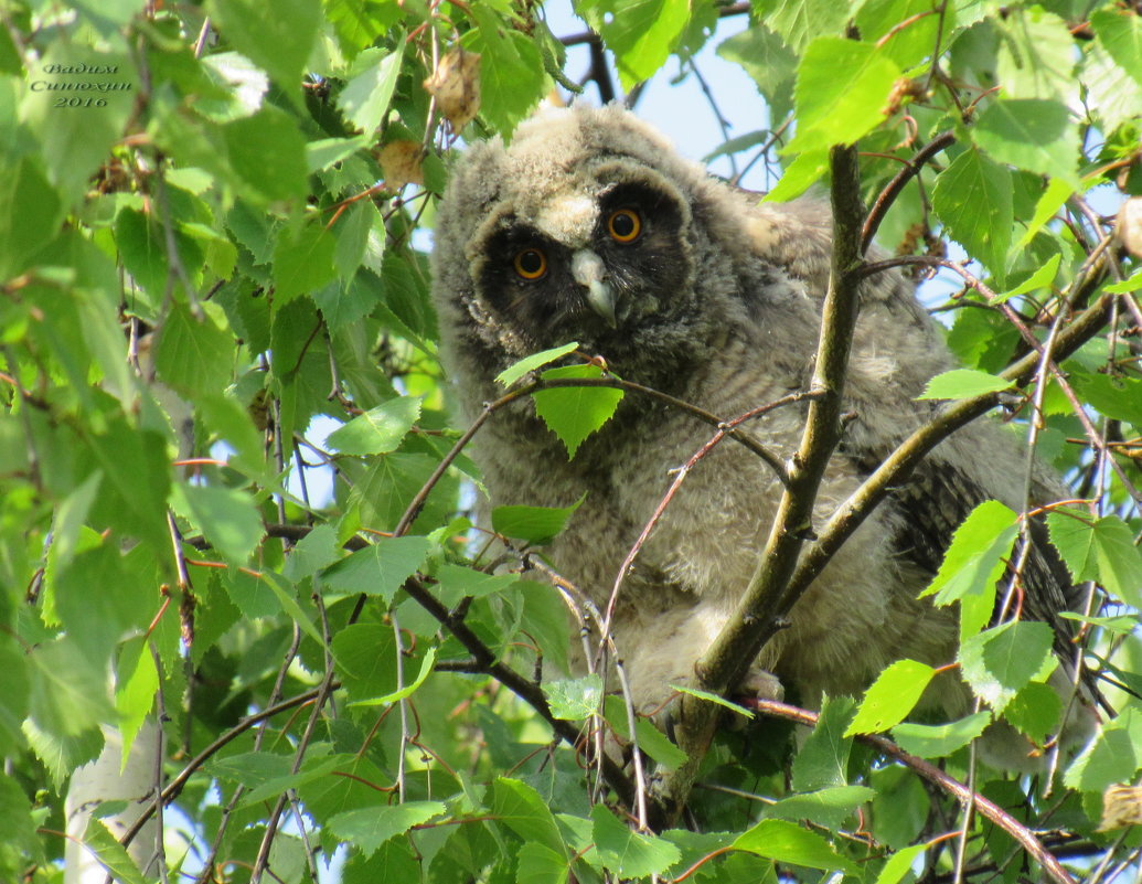
[[[962,622],[960,636],[979,632],[990,619],[996,581],[1003,577],[1018,535],[1015,511],[998,500],[984,500],[952,535],[940,570],[920,597],[934,594],[938,605],[982,600],[979,610],[984,611],[983,621]]]

